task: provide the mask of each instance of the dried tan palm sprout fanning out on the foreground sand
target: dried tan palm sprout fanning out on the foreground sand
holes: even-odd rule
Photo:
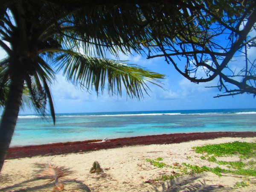
[[[35,177],[37,179],[44,179],[46,183],[54,182],[55,187],[53,191],[62,191],[64,189],[64,184],[61,181],[66,180],[67,176],[73,175],[73,171],[70,171],[70,168],[65,166],[55,166],[50,163],[35,163],[35,168],[38,168],[36,171],[37,174]]]

